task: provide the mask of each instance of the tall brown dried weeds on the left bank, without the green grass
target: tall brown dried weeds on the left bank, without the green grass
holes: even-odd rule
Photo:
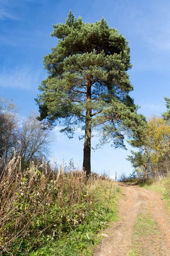
[[[14,157],[6,166],[0,181],[1,249],[8,251],[17,239],[22,243],[30,230],[34,230],[37,216],[43,215],[56,198],[58,205],[62,205],[65,189],[69,195],[69,204],[81,201],[85,181],[85,174],[80,170],[71,170],[66,174],[62,166],[59,171],[51,166],[51,172],[47,172],[46,163],[42,163],[42,166],[32,163],[30,168],[22,172],[20,157]],[[17,245],[17,249],[19,247]]]

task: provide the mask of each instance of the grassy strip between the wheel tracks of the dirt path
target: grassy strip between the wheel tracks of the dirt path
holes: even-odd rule
[[[149,213],[139,214],[133,228],[132,246],[127,256],[158,255],[159,231]]]

